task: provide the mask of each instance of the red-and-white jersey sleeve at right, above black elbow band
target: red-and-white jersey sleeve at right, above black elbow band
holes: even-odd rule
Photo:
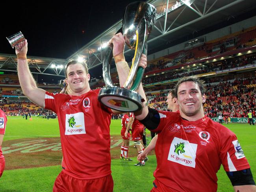
[[[236,135],[226,127],[224,127],[223,131],[220,132],[220,158],[224,170],[227,172],[233,172],[250,168]]]

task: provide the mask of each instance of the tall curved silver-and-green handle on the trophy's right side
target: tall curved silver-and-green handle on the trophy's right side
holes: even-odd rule
[[[146,41],[146,20],[145,18],[141,20],[139,23],[137,29],[136,29],[136,35],[137,35],[137,42],[136,42],[136,48],[135,48],[135,54],[134,54],[134,60],[132,61],[132,67],[130,69],[128,78],[126,79],[126,82],[124,83],[124,88],[130,89],[130,90],[137,90],[139,87],[139,84],[141,82],[141,79],[143,77],[144,68],[139,67],[139,60],[141,58],[141,54],[147,53],[147,43]],[[137,72],[137,73],[136,73]],[[135,74],[136,73],[136,74]]]

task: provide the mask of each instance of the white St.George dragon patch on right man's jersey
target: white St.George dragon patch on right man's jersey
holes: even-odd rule
[[[196,153],[197,144],[174,137],[170,146],[168,160],[195,168]]]

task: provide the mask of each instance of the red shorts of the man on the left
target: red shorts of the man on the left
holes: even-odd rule
[[[60,172],[55,180],[53,192],[113,192],[114,182],[111,174],[97,179],[76,179]]]

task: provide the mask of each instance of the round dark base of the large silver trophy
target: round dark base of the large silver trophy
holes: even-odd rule
[[[140,94],[126,88],[104,87],[100,89],[98,100],[117,111],[134,112],[142,108]]]

